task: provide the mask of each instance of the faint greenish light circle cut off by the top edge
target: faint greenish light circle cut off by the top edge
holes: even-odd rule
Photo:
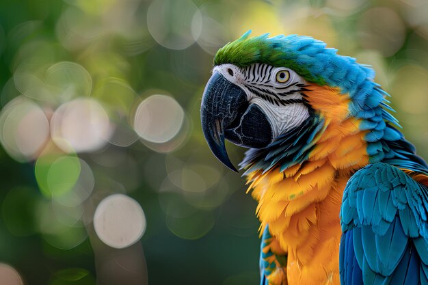
[[[200,35],[202,16],[190,0],[155,0],[147,10],[147,26],[162,46],[186,49]]]

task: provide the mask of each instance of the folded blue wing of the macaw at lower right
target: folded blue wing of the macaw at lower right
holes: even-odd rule
[[[428,285],[427,208],[427,187],[401,169],[373,163],[356,172],[340,210],[341,284]]]

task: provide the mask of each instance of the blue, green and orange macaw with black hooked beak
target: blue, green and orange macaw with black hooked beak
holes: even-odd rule
[[[428,165],[371,66],[310,36],[217,51],[200,109],[211,152],[260,220],[260,285],[428,284]],[[405,94],[403,94],[405,96]]]

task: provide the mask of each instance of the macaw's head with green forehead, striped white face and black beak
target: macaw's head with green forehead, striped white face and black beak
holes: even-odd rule
[[[298,133],[335,120],[369,116],[365,112],[384,100],[371,68],[337,55],[324,42],[249,35],[217,52],[202,96],[206,141],[230,169],[236,171],[224,139],[246,148],[269,148],[291,133],[298,139]],[[282,144],[296,144],[295,139]]]

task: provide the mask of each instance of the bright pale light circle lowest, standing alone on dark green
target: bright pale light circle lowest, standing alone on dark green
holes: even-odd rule
[[[124,248],[137,242],[146,230],[146,217],[138,202],[123,194],[104,198],[96,207],[94,228],[106,245]]]

